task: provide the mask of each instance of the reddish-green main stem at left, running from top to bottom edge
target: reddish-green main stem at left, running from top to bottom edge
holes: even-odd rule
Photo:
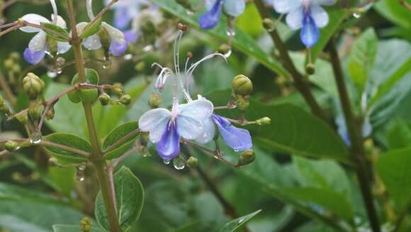
[[[84,83],[86,82],[86,70],[84,67],[84,58],[81,50],[81,39],[79,38],[76,29],[73,1],[67,0],[67,6],[69,9],[70,24],[72,28],[72,47],[76,60],[77,72],[79,74],[79,82]],[[111,189],[111,185],[106,172],[106,161],[103,159],[103,153],[101,153],[101,148],[98,142],[91,104],[83,102],[83,108],[84,114],[86,114],[87,128],[89,131],[91,143],[91,162],[93,162],[94,166],[96,167],[98,182],[101,188],[101,195],[103,197],[108,223],[110,224],[110,231],[121,232],[116,213],[116,199],[113,199],[113,196],[111,194],[111,192],[113,192],[114,190]]]

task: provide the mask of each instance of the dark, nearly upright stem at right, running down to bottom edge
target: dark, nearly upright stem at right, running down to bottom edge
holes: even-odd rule
[[[358,168],[356,169],[356,174],[359,179],[359,186],[361,189],[361,194],[364,199],[364,204],[366,206],[366,211],[368,214],[368,219],[373,228],[374,232],[380,232],[380,223],[378,221],[378,216],[376,213],[375,206],[373,204],[373,194],[371,192],[370,175],[368,173],[368,165],[366,161],[366,156],[364,152],[364,143],[362,138],[362,125],[357,123],[356,117],[351,109],[351,103],[349,101],[349,95],[347,92],[347,87],[344,83],[344,75],[342,74],[341,62],[335,48],[334,41],[330,40],[329,52],[332,62],[332,68],[334,71],[335,82],[337,83],[337,89],[339,93],[339,99],[342,105],[342,111],[344,113],[345,123],[349,132],[349,138],[351,140],[351,155],[354,161],[357,162]]]

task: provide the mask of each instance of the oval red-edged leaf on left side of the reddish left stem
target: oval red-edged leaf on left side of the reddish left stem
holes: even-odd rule
[[[44,138],[45,140],[52,142],[52,143],[65,145],[70,148],[76,148],[78,150],[82,150],[86,153],[91,153],[90,143],[78,136],[74,136],[74,135],[67,134],[67,133],[52,133],[51,135],[45,136]],[[77,153],[74,153],[72,151],[63,150],[60,148],[54,148],[48,145],[46,145],[45,148],[49,150],[50,153],[52,153],[52,155],[54,155],[58,160],[61,160],[62,162],[80,163],[80,162],[87,161],[87,158]]]

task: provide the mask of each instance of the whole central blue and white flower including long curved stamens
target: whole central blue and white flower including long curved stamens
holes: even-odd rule
[[[181,29],[181,27],[180,27]],[[214,113],[211,101],[198,96],[191,99],[189,82],[193,71],[205,60],[213,57],[224,57],[220,53],[213,53],[203,57],[188,67],[186,60],[185,72],[180,72],[179,43],[184,29],[179,30],[174,41],[174,72],[168,67],[162,67],[154,87],[162,89],[168,79],[171,79],[174,89],[171,111],[168,109],[152,109],[143,114],[139,121],[141,131],[149,132],[152,143],[157,145],[157,153],[164,160],[171,160],[180,153],[181,140],[195,140],[197,143],[209,143],[215,138],[216,129],[223,137],[225,143],[235,151],[252,148],[252,138],[249,132],[242,128],[236,128],[230,119]],[[179,88],[180,87],[180,88]],[[179,104],[179,89],[183,93],[187,103]]]

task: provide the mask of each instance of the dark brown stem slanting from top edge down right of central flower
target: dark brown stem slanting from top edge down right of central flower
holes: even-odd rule
[[[270,18],[269,11],[267,11],[266,6],[262,0],[254,0],[254,4],[257,6],[257,9],[262,19]],[[286,45],[283,43],[283,40],[281,40],[280,35],[278,35],[276,29],[267,32],[271,36],[274,45],[278,49],[281,60],[284,62],[286,69],[288,70],[288,72],[290,72],[291,77],[293,78],[295,83],[295,88],[297,88],[298,91],[303,95],[305,102],[308,104],[308,106],[310,106],[310,109],[313,112],[313,114],[315,114],[315,116],[321,118],[325,122],[330,123],[326,114],[324,113],[324,111],[322,111],[320,105],[315,100],[315,97],[313,95],[313,92],[311,92],[310,85],[307,79],[305,79],[305,77],[303,77],[303,75],[300,74],[300,72],[298,72],[297,68],[293,63],[293,60],[291,60],[290,55],[288,55],[288,49]]]

